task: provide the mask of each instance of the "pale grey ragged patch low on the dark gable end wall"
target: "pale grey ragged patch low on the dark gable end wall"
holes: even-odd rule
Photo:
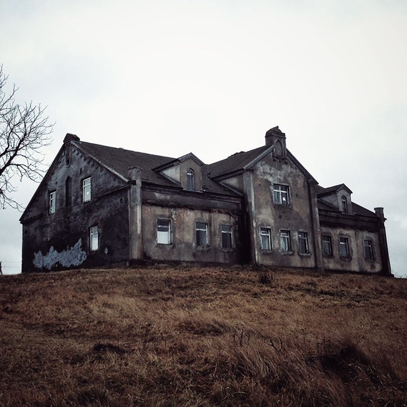
[[[47,254],[42,254],[40,250],[34,253],[33,264],[38,269],[51,270],[58,263],[62,267],[79,266],[86,260],[86,252],[82,250],[82,239],[79,239],[72,247],[67,247],[61,253],[58,253],[53,246],[49,248]]]

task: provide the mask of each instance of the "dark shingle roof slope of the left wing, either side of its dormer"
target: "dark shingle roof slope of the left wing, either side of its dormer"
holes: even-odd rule
[[[164,165],[168,162],[176,160],[172,157],[158,156],[155,154],[139,153],[131,150],[124,150],[115,147],[102,146],[85,141],[75,141],[84,153],[98,160],[101,164],[117,172],[123,178],[129,180],[129,167],[136,166],[141,169],[141,181],[154,185],[179,187],[179,184],[174,183],[162,176],[158,171],[153,171],[153,168]],[[206,177],[208,170],[206,166],[202,167],[202,184],[207,186],[206,191],[235,195],[229,189],[223,187],[210,178]]]

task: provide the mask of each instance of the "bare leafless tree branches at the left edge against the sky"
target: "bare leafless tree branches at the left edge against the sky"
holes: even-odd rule
[[[16,180],[28,178],[38,182],[45,171],[43,147],[49,146],[53,124],[44,115],[45,108],[33,102],[18,104],[13,85],[6,93],[8,75],[0,65],[0,207],[22,209],[11,196]]]

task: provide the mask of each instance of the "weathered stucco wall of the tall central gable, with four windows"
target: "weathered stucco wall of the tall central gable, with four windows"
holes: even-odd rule
[[[308,185],[303,173],[289,160],[270,155],[253,172],[254,248],[258,263],[280,267],[315,267]],[[274,184],[289,187],[289,205],[274,203]],[[260,227],[271,228],[272,250],[260,249]],[[280,229],[290,230],[292,251],[280,250]],[[308,234],[309,254],[299,254],[298,232]]]

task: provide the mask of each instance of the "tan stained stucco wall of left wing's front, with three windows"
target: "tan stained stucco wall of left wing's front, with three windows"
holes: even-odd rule
[[[170,244],[157,243],[158,218],[171,221]],[[208,224],[209,244],[205,248],[196,246],[195,222]],[[233,228],[232,249],[222,249],[222,224]],[[142,233],[146,258],[211,263],[240,261],[238,217],[231,213],[143,205]]]

